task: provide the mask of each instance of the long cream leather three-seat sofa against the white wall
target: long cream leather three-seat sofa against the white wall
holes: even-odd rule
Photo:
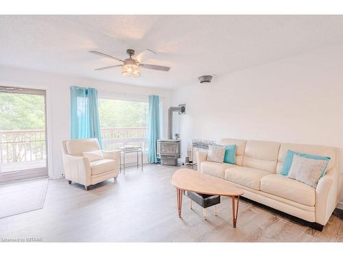
[[[235,164],[209,162],[206,152],[198,152],[198,171],[228,180],[244,190],[244,197],[309,221],[322,230],[338,201],[335,148],[228,138],[220,143],[237,146]],[[279,174],[287,149],[331,158],[316,189]]]

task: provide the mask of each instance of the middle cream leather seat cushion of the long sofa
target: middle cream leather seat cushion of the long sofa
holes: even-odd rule
[[[248,167],[233,167],[226,169],[224,178],[230,182],[259,190],[261,178],[266,175],[270,175],[270,172]]]

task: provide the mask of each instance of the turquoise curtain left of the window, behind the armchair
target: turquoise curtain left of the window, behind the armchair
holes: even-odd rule
[[[102,146],[97,90],[71,86],[71,139],[97,138]]]

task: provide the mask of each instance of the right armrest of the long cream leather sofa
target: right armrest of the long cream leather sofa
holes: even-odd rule
[[[325,225],[337,205],[338,169],[333,167],[316,187],[316,223]]]

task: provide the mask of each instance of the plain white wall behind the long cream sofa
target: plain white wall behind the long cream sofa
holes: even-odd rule
[[[176,90],[182,154],[192,138],[274,140],[339,147],[343,167],[342,67],[336,45]]]

